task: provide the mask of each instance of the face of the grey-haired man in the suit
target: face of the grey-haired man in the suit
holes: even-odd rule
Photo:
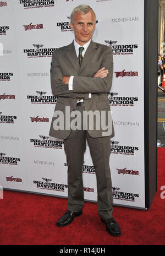
[[[70,27],[74,30],[75,41],[79,45],[85,45],[91,39],[96,26],[94,19],[92,10],[86,14],[80,12],[74,14],[74,24],[70,22]]]

